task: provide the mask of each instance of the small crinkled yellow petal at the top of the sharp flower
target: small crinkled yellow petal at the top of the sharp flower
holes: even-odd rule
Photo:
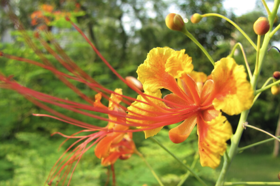
[[[192,58],[185,54],[185,49],[173,51],[165,64],[165,71],[174,78],[181,78],[182,74],[188,74],[194,69]]]

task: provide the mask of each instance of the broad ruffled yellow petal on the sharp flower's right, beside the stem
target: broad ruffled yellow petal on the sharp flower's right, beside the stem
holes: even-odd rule
[[[234,115],[252,106],[254,91],[246,76],[243,65],[237,65],[233,58],[222,58],[216,62],[212,71],[215,109]]]

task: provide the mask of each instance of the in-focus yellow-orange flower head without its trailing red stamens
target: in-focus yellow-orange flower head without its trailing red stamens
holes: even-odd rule
[[[154,48],[148,53],[137,70],[145,93],[128,107],[128,116],[141,117],[128,118],[127,122],[158,126],[144,131],[147,138],[156,135],[164,125],[183,121],[169,131],[174,143],[186,140],[197,124],[201,165],[216,168],[232,135],[231,125],[220,110],[234,115],[249,109],[253,89],[244,67],[233,58],[217,61],[212,78],[207,80],[206,74],[193,71],[192,58],[184,52]],[[172,93],[162,99],[163,88]]]

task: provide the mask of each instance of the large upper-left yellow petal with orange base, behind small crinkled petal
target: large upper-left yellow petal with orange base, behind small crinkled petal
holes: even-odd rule
[[[176,83],[176,79],[165,71],[165,64],[174,50],[171,48],[153,48],[147,55],[147,59],[138,69],[138,80],[143,84],[144,91],[154,92],[165,88],[184,97]]]

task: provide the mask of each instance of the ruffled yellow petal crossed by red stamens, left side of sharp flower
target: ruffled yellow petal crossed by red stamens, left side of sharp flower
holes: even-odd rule
[[[145,94],[151,95],[151,96],[154,96],[154,97],[157,97],[157,98],[161,98],[161,91],[160,90],[157,90],[155,92],[145,92]],[[156,104],[158,107],[168,108],[161,100],[157,100],[157,99],[149,98],[149,97],[147,97],[147,98],[149,100],[151,100],[154,104]],[[137,100],[147,102],[141,95],[138,95]],[[155,113],[155,112],[157,112],[157,113]],[[161,116],[161,115],[159,115],[159,110],[155,106],[151,106],[151,105],[148,105],[148,104],[144,104],[144,103],[135,101],[134,103],[132,103],[128,107],[128,116],[140,117],[139,119],[138,118],[136,118],[136,119],[127,118],[127,123],[128,124],[135,125],[132,122],[136,122],[136,123],[139,123],[139,124],[150,125],[150,126],[139,126],[138,127],[140,129],[143,129],[143,128],[151,127],[151,126],[153,126],[153,124],[156,124],[158,121],[156,120],[155,117]],[[155,119],[151,120],[151,119],[147,119],[147,117],[153,117]],[[147,139],[150,136],[156,135],[162,128],[163,128],[163,126],[144,131],[145,132],[145,138]]]

